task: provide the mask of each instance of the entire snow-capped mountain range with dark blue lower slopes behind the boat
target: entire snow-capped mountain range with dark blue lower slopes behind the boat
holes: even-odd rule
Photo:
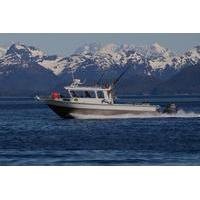
[[[134,79],[134,91],[162,91],[162,87],[154,90],[156,85],[166,80],[169,84],[170,79],[185,68],[188,69],[184,73],[196,77],[194,71],[198,73],[199,70],[192,67],[200,66],[200,46],[175,55],[158,43],[144,46],[89,44],[78,48],[70,56],[61,57],[47,55],[33,46],[12,44],[7,49],[0,48],[0,89],[7,91],[11,85],[12,88],[18,85],[20,89],[23,88],[21,92],[27,86],[31,88],[30,92],[40,91],[41,88],[46,91],[70,82],[71,71],[78,78],[87,80],[87,83],[94,83],[106,70],[104,78],[112,81],[127,66],[130,69],[124,78],[124,88],[128,88],[127,84],[133,88]],[[176,77],[178,81],[179,76]],[[180,80],[183,81],[182,78]]]

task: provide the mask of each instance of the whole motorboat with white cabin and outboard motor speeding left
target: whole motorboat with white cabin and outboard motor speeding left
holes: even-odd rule
[[[121,75],[120,75],[121,76]],[[36,99],[47,104],[62,118],[78,118],[77,116],[116,116],[116,115],[153,115],[177,112],[176,105],[168,105],[162,111],[159,105],[148,103],[121,104],[115,102],[113,85],[84,86],[80,79],[73,79],[64,87],[66,94],[53,92],[50,96],[36,96]]]

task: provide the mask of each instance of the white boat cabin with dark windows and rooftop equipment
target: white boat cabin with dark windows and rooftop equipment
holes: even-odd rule
[[[70,97],[70,102],[89,104],[113,104],[111,87],[86,87],[80,86],[80,80],[64,87]]]

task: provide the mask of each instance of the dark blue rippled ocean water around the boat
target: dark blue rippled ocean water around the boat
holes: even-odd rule
[[[0,98],[0,165],[200,165],[200,96],[122,96],[176,102],[176,115],[64,120],[32,98]]]

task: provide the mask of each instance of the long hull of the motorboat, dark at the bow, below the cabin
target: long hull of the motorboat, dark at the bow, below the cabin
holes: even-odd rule
[[[79,104],[69,103],[59,100],[43,100],[50,109],[62,118],[76,118],[77,115],[84,116],[107,116],[116,115],[153,115],[160,114],[157,106],[149,104],[130,105],[130,104]]]

